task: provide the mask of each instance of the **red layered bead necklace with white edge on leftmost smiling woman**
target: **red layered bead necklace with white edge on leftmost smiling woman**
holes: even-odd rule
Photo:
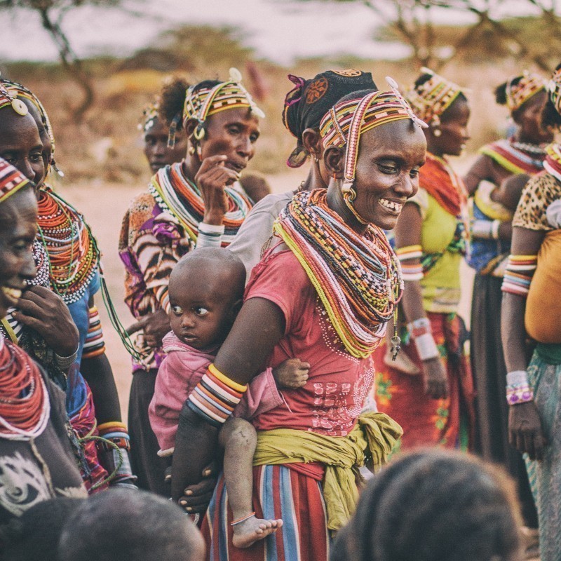
[[[0,438],[29,440],[47,426],[50,403],[39,368],[0,337]]]

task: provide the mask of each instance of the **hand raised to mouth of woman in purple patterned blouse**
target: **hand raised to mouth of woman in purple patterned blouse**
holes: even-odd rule
[[[222,225],[228,210],[228,199],[224,187],[231,185],[240,178],[240,174],[226,167],[227,156],[209,156],[201,163],[195,183],[201,191],[205,214],[203,222],[214,226]]]

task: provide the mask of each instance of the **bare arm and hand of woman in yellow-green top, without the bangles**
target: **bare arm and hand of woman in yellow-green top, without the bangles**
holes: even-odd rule
[[[419,207],[414,203],[406,203],[396,227],[396,247],[398,249],[414,246],[420,247],[422,224],[423,220]],[[421,259],[407,259],[407,265],[420,267]],[[424,323],[428,325],[428,320],[426,319],[423,308],[423,297],[419,280],[405,281],[402,304],[408,324],[415,325]],[[428,332],[421,335],[421,337],[424,337],[424,340],[428,340],[430,343],[429,338],[432,336],[430,332]],[[417,341],[417,343],[419,343],[419,341]],[[419,350],[419,344],[417,344],[417,349]],[[422,352],[419,352],[419,356],[422,358]],[[448,379],[438,352],[436,356],[425,358],[422,362],[422,366],[426,394],[433,399],[446,398],[448,395]]]

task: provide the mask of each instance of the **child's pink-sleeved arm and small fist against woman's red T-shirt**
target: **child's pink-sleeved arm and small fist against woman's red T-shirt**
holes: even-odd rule
[[[306,384],[309,369],[309,363],[303,363],[298,358],[289,358],[276,368],[267,368],[250,381],[248,391],[236,407],[234,415],[243,419],[253,419],[278,405],[283,405],[285,400],[278,388],[301,388]]]

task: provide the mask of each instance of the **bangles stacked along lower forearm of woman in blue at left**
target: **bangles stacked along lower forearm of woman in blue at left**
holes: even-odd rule
[[[126,426],[119,421],[111,421],[97,427],[100,438],[97,450],[100,461],[109,472],[111,485],[135,487],[136,476],[130,467],[130,438]]]

